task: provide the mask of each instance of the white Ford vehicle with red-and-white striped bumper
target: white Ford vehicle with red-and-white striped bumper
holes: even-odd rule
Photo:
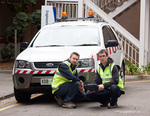
[[[86,77],[86,83],[93,83],[101,49],[108,50],[124,80],[123,48],[108,23],[64,21],[43,27],[15,60],[13,82],[16,100],[26,102],[32,93],[51,93],[58,64],[69,58],[72,52],[80,54],[79,75]]]

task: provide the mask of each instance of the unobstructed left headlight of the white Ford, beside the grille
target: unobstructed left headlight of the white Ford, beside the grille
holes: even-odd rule
[[[16,60],[15,68],[29,68],[29,62],[25,60]]]

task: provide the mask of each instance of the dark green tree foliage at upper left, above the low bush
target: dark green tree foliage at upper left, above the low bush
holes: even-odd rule
[[[12,12],[16,13],[16,16],[13,18],[13,24],[7,27],[5,31],[5,43],[7,43],[8,41],[14,42],[15,29],[17,29],[18,41],[23,41],[23,33],[25,31],[25,28],[28,26],[28,22],[30,19],[28,7],[34,4],[36,4],[36,0],[20,0],[20,2],[15,2],[13,0],[7,1],[8,7]]]

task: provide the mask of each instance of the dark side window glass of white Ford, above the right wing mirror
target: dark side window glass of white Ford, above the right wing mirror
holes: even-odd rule
[[[108,40],[117,40],[116,36],[109,26],[103,26],[102,31],[104,35],[104,43],[107,43]]]

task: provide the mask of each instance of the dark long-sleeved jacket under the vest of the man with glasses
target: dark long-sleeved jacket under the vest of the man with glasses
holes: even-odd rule
[[[113,60],[111,58],[108,58],[108,63],[106,64],[106,66],[104,67],[102,65],[102,63],[100,63],[100,67],[103,69],[103,71],[105,70],[105,68],[107,66],[109,66],[109,63],[113,63]],[[110,82],[104,83],[104,88],[109,88],[112,84],[118,84],[119,82],[119,73],[118,73],[118,68],[116,65],[114,65],[113,70],[112,70],[112,79]],[[102,84],[102,78],[100,77],[100,75],[98,74],[98,72],[96,72],[96,79],[95,79],[95,83],[97,85]]]

